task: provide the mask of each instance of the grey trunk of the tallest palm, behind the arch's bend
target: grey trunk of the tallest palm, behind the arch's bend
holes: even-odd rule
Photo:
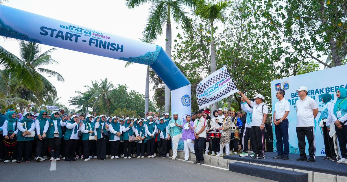
[[[166,25],[166,43],[165,52],[171,58],[171,23],[170,23],[170,6],[168,6],[168,23]],[[171,90],[165,84],[165,112],[170,113]]]

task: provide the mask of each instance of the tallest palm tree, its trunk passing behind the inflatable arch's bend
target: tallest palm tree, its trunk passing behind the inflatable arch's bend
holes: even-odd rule
[[[183,6],[193,7],[193,0],[125,0],[130,9],[138,8],[144,3],[151,3],[150,15],[147,18],[143,37],[145,42],[153,43],[161,35],[166,25],[165,52],[171,58],[171,16],[185,31],[193,29],[192,19],[184,12]],[[170,89],[165,85],[165,112],[170,112]]]

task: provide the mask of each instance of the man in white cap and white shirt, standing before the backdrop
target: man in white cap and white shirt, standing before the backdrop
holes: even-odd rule
[[[316,145],[314,141],[314,118],[318,114],[318,105],[316,101],[307,96],[307,87],[301,86],[296,90],[298,92],[298,99],[296,105],[296,135],[298,137],[298,146],[300,151],[300,158],[297,161],[315,162]],[[308,141],[308,153],[310,158],[306,157],[306,142],[305,136]]]

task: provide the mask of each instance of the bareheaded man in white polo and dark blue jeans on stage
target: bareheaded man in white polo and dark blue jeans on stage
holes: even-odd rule
[[[284,98],[285,91],[280,89],[276,93],[278,102],[275,104],[275,111],[273,113],[273,123],[275,124],[276,133],[276,148],[278,155],[274,159],[289,159],[289,135],[288,135],[288,114],[290,111],[290,104]],[[283,150],[284,146],[284,150]]]

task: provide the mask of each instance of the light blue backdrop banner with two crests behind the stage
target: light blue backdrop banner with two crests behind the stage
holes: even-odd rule
[[[319,113],[314,120],[314,133],[315,133],[315,145],[316,156],[325,156],[325,147],[323,142],[322,128],[319,127],[320,112],[324,107],[322,102],[322,94],[329,93],[332,95],[332,101],[335,103],[336,89],[339,87],[347,88],[347,80],[339,78],[347,78],[347,65],[338,66],[334,68],[324,69],[303,75],[283,78],[279,80],[271,81],[271,99],[272,99],[272,111],[275,110],[275,103],[278,102],[276,98],[276,92],[279,89],[285,90],[285,99],[290,103],[290,112],[288,115],[289,121],[289,153],[299,154],[298,139],[296,136],[296,106],[295,102],[300,99],[298,93],[295,91],[300,86],[306,86],[308,89],[308,96],[312,97],[318,105]],[[338,73],[338,78],[335,77]],[[335,79],[337,78],[337,79]],[[273,114],[273,112],[272,112]],[[273,125],[273,151],[276,149],[276,135]],[[308,143],[306,139],[306,154],[308,155]]]

